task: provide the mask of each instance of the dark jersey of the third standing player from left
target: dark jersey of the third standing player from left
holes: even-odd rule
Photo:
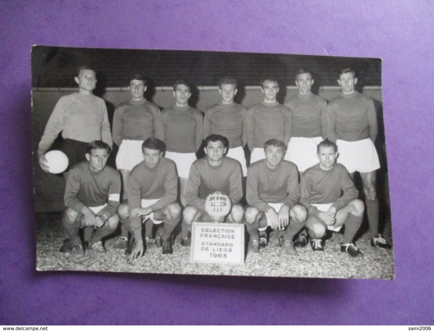
[[[190,106],[171,106],[161,112],[167,150],[196,153],[202,144],[203,116]]]

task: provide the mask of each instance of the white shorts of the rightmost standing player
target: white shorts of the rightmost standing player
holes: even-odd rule
[[[380,168],[377,150],[371,139],[359,141],[337,140],[339,157],[337,162],[343,164],[348,172],[370,172]]]

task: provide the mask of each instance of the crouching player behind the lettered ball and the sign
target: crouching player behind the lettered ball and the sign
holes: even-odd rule
[[[184,221],[181,230],[181,245],[190,246],[191,223],[210,222],[211,217],[205,211],[205,199],[208,194],[220,191],[227,194],[232,202],[232,209],[226,217],[228,223],[241,223],[244,210],[240,204],[243,196],[240,163],[226,154],[229,141],[219,134],[211,134],[205,139],[205,157],[194,161],[188,176]]]

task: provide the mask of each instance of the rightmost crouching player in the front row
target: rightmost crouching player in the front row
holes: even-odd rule
[[[341,252],[361,256],[352,240],[362,224],[365,206],[357,199],[358,191],[348,171],[342,164],[335,164],[337,150],[329,140],[318,144],[319,164],[303,173],[300,202],[309,210],[306,228],[314,251],[324,250],[322,238],[327,229],[337,232],[345,225]]]

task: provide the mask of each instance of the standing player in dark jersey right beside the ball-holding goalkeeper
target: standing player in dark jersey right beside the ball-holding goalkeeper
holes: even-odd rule
[[[135,74],[128,79],[131,99],[118,106],[113,116],[113,141],[119,146],[116,167],[122,175],[122,200],[128,199],[128,175],[132,168],[143,161],[141,144],[149,137],[164,141],[161,111],[157,105],[145,99],[146,78]],[[121,237],[115,248],[126,248],[128,230],[121,225]]]

